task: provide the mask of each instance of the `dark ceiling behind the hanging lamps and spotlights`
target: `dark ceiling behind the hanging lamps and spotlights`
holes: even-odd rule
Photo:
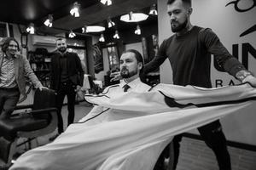
[[[148,14],[152,4],[157,0],[113,0],[111,6],[103,5],[100,0],[80,0],[80,17],[74,18],[69,14],[75,0],[8,0],[0,1],[0,21],[27,26],[34,23],[38,32],[57,34],[63,31],[80,31],[82,26],[95,24],[107,25],[108,17],[116,22],[118,29],[127,29],[132,24],[119,20],[121,14],[130,11]],[[53,27],[44,26],[48,14],[53,14]],[[146,25],[156,22],[157,17],[149,17],[140,23]],[[135,25],[135,24],[133,24]]]

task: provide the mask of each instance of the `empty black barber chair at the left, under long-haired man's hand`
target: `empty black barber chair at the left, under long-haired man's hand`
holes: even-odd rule
[[[34,139],[55,131],[57,109],[55,92],[37,89],[33,105],[17,106],[16,110],[32,109],[13,114],[9,119],[0,120],[0,161],[10,165],[19,138]]]

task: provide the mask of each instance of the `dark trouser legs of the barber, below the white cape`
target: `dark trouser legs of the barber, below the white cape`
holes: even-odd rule
[[[205,126],[198,127],[202,139],[208,147],[214,152],[218,161],[219,170],[231,170],[230,154],[227,149],[227,141],[221,128],[219,121],[211,122]],[[177,167],[177,159],[179,156],[180,142],[182,134],[175,136],[172,140],[174,150],[173,169]]]

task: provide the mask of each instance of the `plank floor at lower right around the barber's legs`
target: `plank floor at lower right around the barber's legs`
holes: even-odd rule
[[[256,152],[229,147],[232,170],[256,170]],[[177,170],[218,170],[207,145],[198,139],[183,138]]]

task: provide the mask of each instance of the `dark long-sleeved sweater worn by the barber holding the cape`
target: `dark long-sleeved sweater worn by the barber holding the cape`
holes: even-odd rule
[[[168,58],[172,65],[174,84],[212,88],[211,54],[219,69],[234,77],[237,71],[245,70],[211,29],[194,26],[182,36],[175,34],[162,42],[159,53],[145,65],[143,72],[154,71]]]

